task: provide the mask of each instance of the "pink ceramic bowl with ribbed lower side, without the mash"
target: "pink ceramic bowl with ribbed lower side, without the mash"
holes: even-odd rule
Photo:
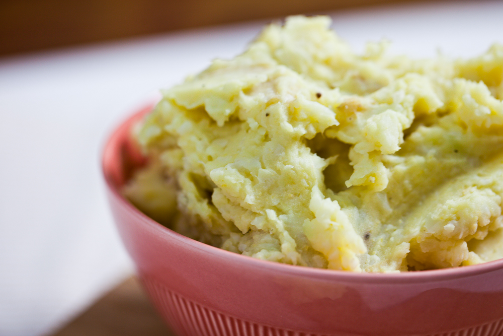
[[[146,108],[106,144],[103,172],[122,240],[179,335],[501,335],[503,259],[403,274],[353,274],[224,251],[134,208],[120,188],[144,164],[130,138]]]

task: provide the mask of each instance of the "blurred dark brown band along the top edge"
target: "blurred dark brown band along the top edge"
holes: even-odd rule
[[[3,0],[0,54],[406,0]]]

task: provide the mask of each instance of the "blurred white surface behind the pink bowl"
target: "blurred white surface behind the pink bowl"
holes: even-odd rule
[[[503,43],[503,3],[408,5],[332,15],[357,50],[474,56]],[[130,275],[100,155],[110,130],[264,22],[0,58],[0,335],[42,335]]]

